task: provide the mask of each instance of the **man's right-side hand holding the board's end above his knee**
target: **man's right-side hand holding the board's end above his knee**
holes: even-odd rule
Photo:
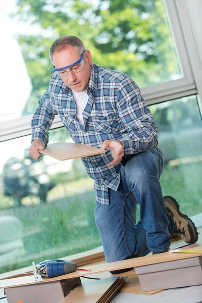
[[[112,157],[114,160],[110,163],[107,164],[107,166],[112,166],[116,163],[121,162],[123,156],[124,156],[124,151],[123,151],[123,144],[121,141],[113,141],[113,140],[105,140],[102,144],[102,149],[110,149]]]

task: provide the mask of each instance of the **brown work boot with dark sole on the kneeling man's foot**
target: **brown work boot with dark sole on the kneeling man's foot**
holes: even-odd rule
[[[164,196],[166,210],[172,217],[175,229],[173,234],[177,234],[186,243],[195,243],[198,239],[198,232],[194,223],[186,215],[183,215],[179,210],[179,204],[171,196]],[[171,236],[174,236],[174,235]]]

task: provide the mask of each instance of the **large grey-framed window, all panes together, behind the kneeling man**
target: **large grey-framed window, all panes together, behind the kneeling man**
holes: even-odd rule
[[[33,161],[26,150],[53,72],[48,48],[62,35],[80,37],[94,63],[137,82],[159,130],[163,193],[188,215],[202,212],[202,75],[185,1],[8,0],[0,15],[0,272],[101,244],[81,160]],[[56,117],[50,142],[70,140],[62,126]]]

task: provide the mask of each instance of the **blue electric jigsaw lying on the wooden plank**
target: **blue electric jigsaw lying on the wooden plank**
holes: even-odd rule
[[[53,278],[61,275],[69,274],[77,270],[77,264],[72,261],[66,260],[45,260],[40,262],[38,265],[33,265],[34,278],[37,281],[37,276],[41,278]]]

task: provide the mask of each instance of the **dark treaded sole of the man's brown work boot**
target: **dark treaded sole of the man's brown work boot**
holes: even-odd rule
[[[191,238],[190,238],[190,241],[187,241],[186,243],[189,243],[189,244],[195,243],[198,240],[198,232],[197,232],[197,229],[196,229],[194,223],[191,221],[190,218],[187,217],[187,215],[184,215],[180,212],[180,210],[179,210],[180,206],[177,203],[175,198],[167,195],[167,196],[164,196],[164,200],[166,200],[167,203],[172,205],[172,207],[177,211],[178,215],[188,222],[187,227],[188,227],[188,231],[189,231]]]

